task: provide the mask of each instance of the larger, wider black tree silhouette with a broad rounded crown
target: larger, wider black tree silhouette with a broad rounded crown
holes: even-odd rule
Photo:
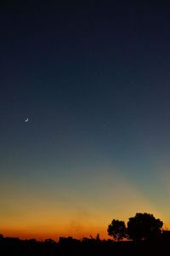
[[[161,235],[162,221],[150,213],[137,212],[135,217],[127,222],[127,235],[133,240],[146,240]]]

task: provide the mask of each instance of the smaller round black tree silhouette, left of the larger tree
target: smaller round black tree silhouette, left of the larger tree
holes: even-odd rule
[[[124,221],[118,219],[113,219],[107,229],[108,235],[113,236],[116,241],[120,241],[126,237],[126,230]]]

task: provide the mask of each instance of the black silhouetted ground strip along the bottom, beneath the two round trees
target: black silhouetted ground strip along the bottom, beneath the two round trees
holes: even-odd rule
[[[97,241],[85,238],[78,241],[73,238],[61,238],[59,242],[53,240],[36,241],[18,238],[0,238],[1,256],[147,256],[170,255],[170,243],[166,239],[157,241]]]

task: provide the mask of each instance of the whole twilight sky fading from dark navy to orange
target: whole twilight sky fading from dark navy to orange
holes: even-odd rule
[[[4,236],[108,238],[136,212],[170,228],[169,11],[1,1]]]

